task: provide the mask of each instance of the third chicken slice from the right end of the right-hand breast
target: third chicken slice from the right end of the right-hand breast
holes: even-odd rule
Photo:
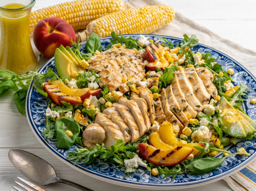
[[[201,112],[203,110],[203,106],[193,93],[193,87],[189,82],[188,78],[186,77],[185,71],[179,70],[176,71],[174,74],[177,75],[177,79],[179,79],[180,86],[182,87],[181,90],[184,93],[188,104],[195,111]]]

